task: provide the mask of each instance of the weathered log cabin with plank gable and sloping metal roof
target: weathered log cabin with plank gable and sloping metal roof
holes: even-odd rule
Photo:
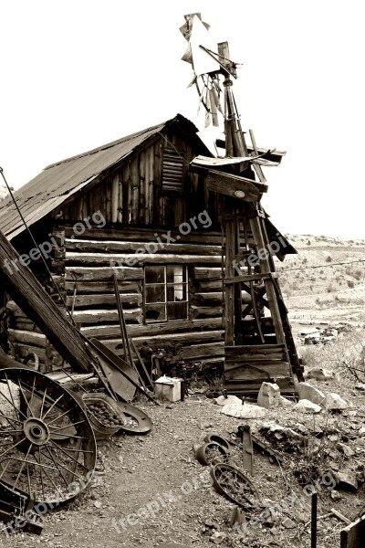
[[[48,165],[15,193],[73,320],[116,353],[122,350],[114,273],[137,347],[179,344],[185,361],[223,363],[224,198],[189,170],[198,154],[212,157],[193,123],[178,114]],[[283,154],[275,153],[276,162]],[[10,198],[1,203],[0,228],[62,308]],[[266,231],[280,247],[277,256],[295,252],[268,219]],[[248,246],[255,243],[250,233],[245,237]],[[18,360],[36,353],[57,365],[45,335],[14,301],[2,299],[8,351]],[[254,323],[245,317],[247,332]]]

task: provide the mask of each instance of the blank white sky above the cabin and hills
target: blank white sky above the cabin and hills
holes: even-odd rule
[[[47,164],[177,112],[203,130],[183,15],[200,11],[242,62],[235,100],[283,232],[365,237],[363,7],[348,0],[3,0],[0,165],[25,184]],[[209,138],[211,132],[207,133]],[[361,152],[360,152],[361,154]]]

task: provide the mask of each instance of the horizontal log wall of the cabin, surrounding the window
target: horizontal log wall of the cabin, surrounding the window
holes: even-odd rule
[[[57,272],[57,286],[73,311],[74,321],[85,335],[96,337],[122,355],[115,272],[128,332],[138,348],[143,342],[154,348],[180,343],[183,346],[180,357],[185,361],[223,362],[222,249],[218,245],[221,235],[194,231],[174,244],[166,244],[161,252],[136,255],[138,248],[156,239],[154,235],[154,230],[139,233],[128,228],[93,228],[82,237],[72,237],[72,227],[55,225],[53,237],[58,247],[52,269]],[[136,264],[128,266],[136,257]],[[110,266],[110,260],[116,264]],[[161,264],[187,265],[189,317],[186,320],[145,321],[144,267]],[[51,284],[47,290],[61,305]],[[16,358],[22,360],[28,353],[36,353],[41,364],[59,366],[59,356],[45,335],[14,301],[7,302],[7,310],[11,352]]]

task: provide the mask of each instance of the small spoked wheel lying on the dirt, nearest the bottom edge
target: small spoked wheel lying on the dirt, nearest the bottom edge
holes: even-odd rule
[[[235,466],[223,462],[215,464],[211,476],[215,490],[241,508],[254,509],[260,503],[253,483]]]

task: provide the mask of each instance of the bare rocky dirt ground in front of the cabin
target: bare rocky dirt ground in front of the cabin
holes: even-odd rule
[[[310,383],[325,394],[339,393],[349,408],[336,415],[322,411],[311,416],[280,407],[268,410],[265,418],[245,421],[224,416],[220,406],[196,390],[185,401],[172,405],[141,404],[153,421],[150,434],[117,435],[99,442],[96,485],[67,508],[49,512],[41,536],[19,532],[6,538],[3,534],[1,543],[25,548],[39,543],[54,548],[150,548],[175,543],[305,548],[310,545],[309,495],[316,483],[318,548],[339,546],[339,531],[345,523],[330,510],[352,521],[365,507],[365,435],[360,431],[364,426],[365,391],[355,389],[354,383],[343,378]],[[265,425],[291,427],[308,444],[299,450],[296,440],[288,442],[286,437],[274,436],[272,447],[282,452],[282,466],[255,451],[251,479],[261,501],[255,511],[245,514],[245,524],[233,529],[228,522],[235,505],[214,490],[208,467],[194,458],[193,444],[203,442],[209,433],[229,436],[245,423],[262,439],[261,427]],[[239,464],[239,451],[234,451],[234,458]],[[325,476],[328,466],[331,476]],[[342,469],[354,472],[359,490],[333,489],[333,475]],[[266,520],[262,519],[265,510]]]

